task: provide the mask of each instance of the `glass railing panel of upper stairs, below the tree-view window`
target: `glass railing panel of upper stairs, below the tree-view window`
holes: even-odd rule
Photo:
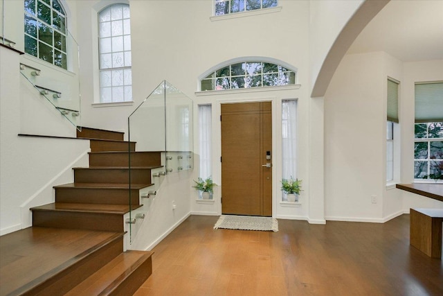
[[[21,75],[46,98],[75,128],[81,129],[79,48],[72,35],[66,35],[66,54],[59,53],[57,65],[40,62],[25,55],[21,60]]]

